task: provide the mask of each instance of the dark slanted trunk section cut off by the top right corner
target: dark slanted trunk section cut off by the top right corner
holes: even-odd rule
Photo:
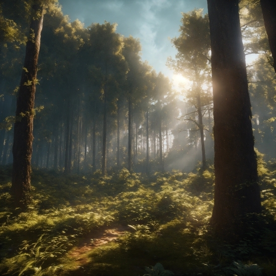
[[[274,0],[260,0],[260,6],[276,73],[276,4]]]

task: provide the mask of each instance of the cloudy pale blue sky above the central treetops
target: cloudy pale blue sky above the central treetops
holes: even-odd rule
[[[179,36],[181,12],[202,8],[203,14],[207,13],[207,0],[59,0],[59,3],[71,21],[79,19],[88,27],[105,20],[117,23],[119,34],[139,38],[142,59],[172,79],[176,89],[185,79],[166,66],[167,58],[176,55],[168,38]]]

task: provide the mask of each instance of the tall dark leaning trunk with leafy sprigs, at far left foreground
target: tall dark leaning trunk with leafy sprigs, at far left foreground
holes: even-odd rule
[[[43,12],[43,6],[39,5],[38,1],[35,1],[35,4],[32,6],[30,33],[26,44],[24,69],[17,98],[17,121],[15,122],[14,128],[13,145],[14,165],[12,193],[16,206],[21,207],[27,206],[31,200],[33,121]]]

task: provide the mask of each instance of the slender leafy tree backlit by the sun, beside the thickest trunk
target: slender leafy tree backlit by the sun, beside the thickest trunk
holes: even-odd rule
[[[176,60],[168,59],[167,65],[174,69],[176,73],[182,74],[193,82],[192,88],[186,93],[186,98],[195,106],[198,120],[187,115],[182,116],[182,120],[193,121],[197,128],[192,131],[200,131],[200,141],[202,150],[202,167],[206,167],[205,145],[204,145],[204,125],[202,107],[211,103],[211,97],[203,91],[203,84],[208,81],[209,76],[209,20],[208,16],[202,16],[202,9],[194,10],[190,13],[182,14],[182,26],[180,26],[180,36],[173,38],[178,53]]]

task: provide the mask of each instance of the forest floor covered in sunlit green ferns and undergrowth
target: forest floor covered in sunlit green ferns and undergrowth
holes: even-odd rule
[[[24,212],[13,208],[12,168],[0,167],[0,274],[138,276],[161,263],[175,275],[274,276],[276,163],[258,166],[259,227],[235,243],[208,224],[213,167],[106,177],[34,169]]]

